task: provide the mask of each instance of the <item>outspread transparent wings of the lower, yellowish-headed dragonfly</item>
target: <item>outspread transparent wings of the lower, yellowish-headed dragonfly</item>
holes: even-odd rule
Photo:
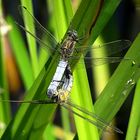
[[[18,100],[0,100],[0,102],[11,102],[11,103],[31,103],[31,104],[59,104],[57,102],[54,102],[52,100],[26,100],[26,101],[18,101]],[[78,117],[88,121],[89,123],[97,126],[99,129],[104,130],[105,128],[108,128],[106,131],[111,132],[111,130],[123,134],[123,132],[118,129],[117,127],[114,127],[112,125],[110,125],[109,123],[106,123],[103,119],[101,119],[100,117],[98,117],[96,114],[94,114],[93,112],[90,112],[74,103],[71,103],[70,101],[67,101],[65,103],[60,103],[60,105],[66,109],[68,109],[69,111],[71,111],[72,113],[74,113],[75,115],[77,115]],[[80,113],[84,113],[87,115],[87,117],[81,115]],[[88,118],[90,117],[90,119]]]

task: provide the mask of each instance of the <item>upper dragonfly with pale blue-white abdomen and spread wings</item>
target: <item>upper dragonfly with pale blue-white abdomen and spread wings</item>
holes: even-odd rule
[[[82,48],[80,47],[80,48],[75,49],[75,44],[79,43],[79,40],[80,40],[78,38],[78,33],[76,30],[69,30],[67,32],[66,39],[59,44],[59,46],[60,46],[59,49],[56,49],[56,46],[58,46],[58,42],[56,41],[55,37],[38,22],[38,20],[27,10],[27,8],[24,6],[19,6],[19,11],[20,11],[21,15],[22,15],[21,11],[23,11],[24,13],[26,13],[26,15],[29,18],[33,19],[34,25],[36,25],[35,27],[36,27],[37,34],[34,35],[29,30],[25,29],[22,25],[19,25],[18,23],[17,23],[17,25],[19,27],[21,27],[25,32],[29,33],[31,36],[36,38],[37,42],[39,44],[41,44],[41,46],[43,48],[45,48],[46,50],[49,49],[49,52],[55,51],[60,54],[60,60],[58,63],[58,67],[57,67],[54,77],[48,87],[48,92],[47,92],[47,95],[49,98],[53,98],[53,99],[55,97],[58,98],[58,95],[60,95],[60,94],[58,94],[58,89],[60,89],[58,87],[62,87],[62,83],[64,83],[62,80],[63,75],[65,75],[64,73],[70,73],[70,74],[65,75],[65,77],[66,76],[72,77],[70,61],[73,62],[73,61],[78,60],[80,58],[80,56],[78,56],[78,54],[80,52],[85,53],[85,52],[91,51],[91,49],[88,49],[85,46],[82,46]],[[41,40],[40,33],[46,35],[47,42]],[[49,42],[49,44],[48,44],[48,42]],[[93,49],[94,49],[94,53],[97,55],[97,54],[99,54],[99,52],[102,49],[109,48],[108,55],[111,55],[111,54],[117,53],[119,51],[122,51],[123,49],[128,48],[130,46],[130,44],[131,44],[131,42],[129,40],[118,40],[118,41],[106,43],[104,45],[95,47]],[[73,54],[75,54],[75,55],[73,56]],[[91,60],[93,60],[92,61],[93,65],[101,65],[101,64],[105,64],[105,63],[115,63],[115,62],[120,62],[121,60],[131,60],[131,59],[129,59],[129,58],[123,59],[122,57],[104,57],[104,58],[84,57],[84,60],[85,60],[86,65],[90,65]],[[69,78],[69,79],[72,79],[72,78]],[[72,81],[72,80],[67,79],[66,81]],[[69,85],[72,86],[71,83],[72,82],[70,82]],[[68,86],[68,87],[71,87],[71,86]],[[68,88],[68,89],[67,90],[70,92],[71,88]]]

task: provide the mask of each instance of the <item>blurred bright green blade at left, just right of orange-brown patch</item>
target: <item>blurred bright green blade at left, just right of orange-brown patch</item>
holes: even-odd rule
[[[16,58],[16,62],[22,77],[23,84],[26,89],[29,89],[34,81],[33,71],[31,69],[31,63],[23,42],[22,36],[18,31],[18,27],[11,17],[8,17],[8,22],[12,26],[9,32],[9,39],[11,42],[12,51]],[[18,41],[15,41],[18,40]]]

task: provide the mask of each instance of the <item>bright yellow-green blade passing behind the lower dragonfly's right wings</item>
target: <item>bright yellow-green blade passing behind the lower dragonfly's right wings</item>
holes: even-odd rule
[[[74,86],[71,94],[72,101],[78,104],[79,106],[91,112],[94,112],[86,70],[83,69],[84,64],[81,67],[81,69],[78,67],[79,69],[75,69],[74,71]],[[82,115],[85,116],[84,114]],[[99,139],[98,130],[96,126],[79,118],[76,115],[75,123],[79,139]]]

